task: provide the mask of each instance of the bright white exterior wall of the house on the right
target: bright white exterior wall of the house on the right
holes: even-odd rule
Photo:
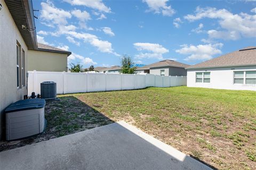
[[[232,69],[232,70],[231,70]],[[196,72],[210,72],[210,83],[196,82]],[[254,90],[255,84],[234,84],[234,71],[256,71],[255,66],[222,67],[187,70],[187,87],[202,87],[229,90]]]

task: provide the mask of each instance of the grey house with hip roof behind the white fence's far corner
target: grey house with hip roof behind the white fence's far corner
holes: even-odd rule
[[[149,64],[143,67],[139,67],[136,70],[136,73],[149,73],[156,75],[165,75],[165,76],[181,76],[187,75],[185,67],[189,65],[179,63],[173,60],[163,60],[157,63]]]

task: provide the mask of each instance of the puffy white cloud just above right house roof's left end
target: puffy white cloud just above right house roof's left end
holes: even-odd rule
[[[182,48],[175,50],[176,53],[189,55],[185,58],[186,61],[193,60],[210,60],[215,54],[221,54],[220,48],[222,43],[218,44],[206,44],[206,45],[181,45]]]

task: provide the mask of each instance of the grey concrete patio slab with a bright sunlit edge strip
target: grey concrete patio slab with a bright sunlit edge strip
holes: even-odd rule
[[[0,152],[0,169],[211,169],[123,121]]]

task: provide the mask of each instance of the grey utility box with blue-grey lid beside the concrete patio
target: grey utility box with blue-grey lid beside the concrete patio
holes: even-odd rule
[[[44,99],[19,100],[5,109],[6,140],[42,133],[45,128]]]

